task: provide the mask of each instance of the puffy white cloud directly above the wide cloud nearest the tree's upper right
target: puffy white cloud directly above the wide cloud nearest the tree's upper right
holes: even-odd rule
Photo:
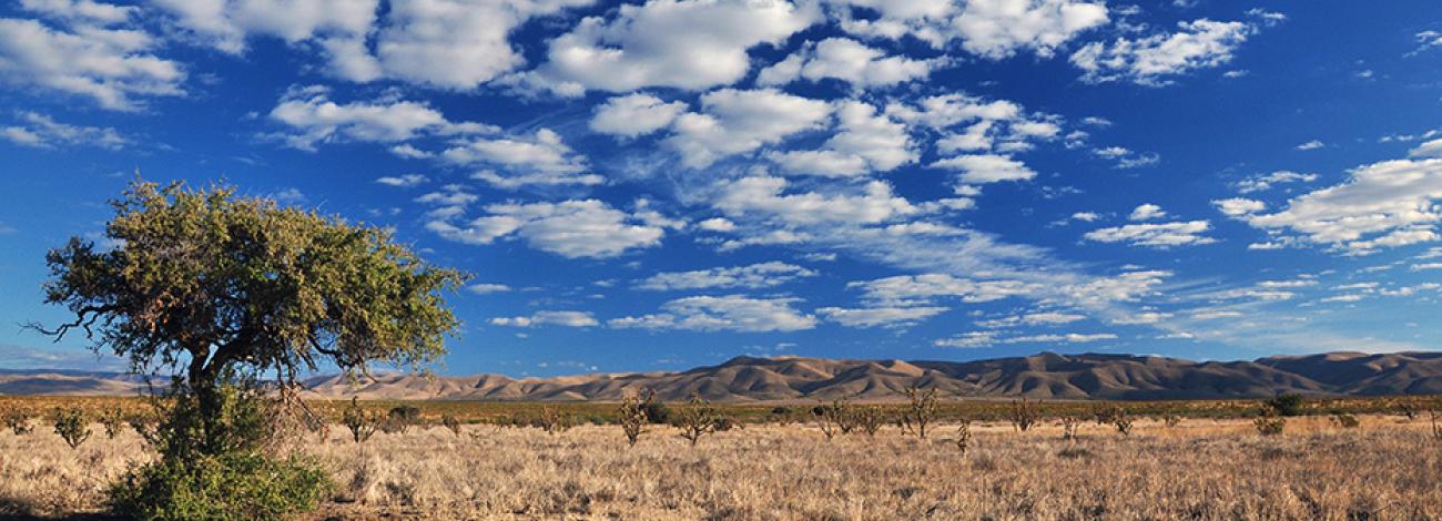
[[[500,189],[532,184],[601,184],[601,176],[587,171],[585,157],[575,154],[561,141],[561,135],[541,128],[532,135],[473,138],[457,142],[441,153],[441,158],[457,166],[497,166],[506,176],[492,170],[477,171],[473,178]]]

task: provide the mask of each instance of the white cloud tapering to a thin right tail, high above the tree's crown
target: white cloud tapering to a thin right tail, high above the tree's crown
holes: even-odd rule
[[[401,99],[336,104],[323,86],[293,88],[270,112],[270,119],[293,132],[273,135],[287,145],[314,151],[319,144],[362,141],[401,142],[421,135],[496,132],[476,122],[450,122],[425,104]]]

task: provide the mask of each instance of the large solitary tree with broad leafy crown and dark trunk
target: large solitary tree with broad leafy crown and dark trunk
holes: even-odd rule
[[[33,325],[56,341],[82,331],[133,371],[169,367],[218,427],[228,374],[274,373],[283,386],[329,361],[418,367],[456,327],[441,296],[464,275],[431,266],[391,232],[234,187],[136,180],[111,206],[105,245],[50,250],[46,302],[74,320]],[[202,442],[203,443],[203,442]]]

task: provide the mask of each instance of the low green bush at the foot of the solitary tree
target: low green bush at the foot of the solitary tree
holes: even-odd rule
[[[136,520],[275,520],[314,509],[332,489],[313,462],[231,452],[131,469],[111,485],[110,504]]]

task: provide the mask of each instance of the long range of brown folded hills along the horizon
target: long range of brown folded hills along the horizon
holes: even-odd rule
[[[512,379],[499,374],[381,374],[304,381],[311,397],[392,400],[620,400],[652,389],[675,402],[893,400],[910,386],[950,397],[1227,399],[1279,393],[1325,396],[1442,394],[1442,353],[1327,353],[1253,361],[1191,361],[1126,354],[1056,354],[978,361],[737,357],[682,373]],[[144,381],[115,373],[0,371],[0,394],[136,394]]]

